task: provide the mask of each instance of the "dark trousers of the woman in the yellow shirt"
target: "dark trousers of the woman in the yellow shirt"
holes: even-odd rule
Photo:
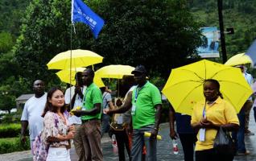
[[[219,155],[213,149],[196,151],[196,161],[233,161],[233,155]]]

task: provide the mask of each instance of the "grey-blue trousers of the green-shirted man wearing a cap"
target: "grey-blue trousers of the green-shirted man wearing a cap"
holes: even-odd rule
[[[141,161],[142,160],[142,147],[145,145],[147,149],[146,160],[156,161],[156,139],[150,139],[144,137],[144,132],[151,132],[154,125],[143,126],[140,129],[134,129],[133,131],[133,144],[131,147],[131,160]]]

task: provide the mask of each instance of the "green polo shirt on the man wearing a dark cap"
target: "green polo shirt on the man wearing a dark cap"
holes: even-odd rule
[[[138,97],[135,102],[136,93]],[[133,91],[132,104],[136,107],[135,114],[132,115],[134,129],[155,124],[155,105],[162,104],[159,89],[149,81],[142,88],[137,86]]]

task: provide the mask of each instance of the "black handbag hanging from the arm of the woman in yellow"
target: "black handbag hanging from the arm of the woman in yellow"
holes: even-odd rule
[[[229,132],[220,127],[214,139],[213,149],[217,154],[235,155],[236,147]]]

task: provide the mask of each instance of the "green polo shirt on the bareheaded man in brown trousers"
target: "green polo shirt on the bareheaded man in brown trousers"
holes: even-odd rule
[[[83,110],[90,110],[94,108],[94,104],[101,103],[102,104],[102,94],[101,90],[92,83],[89,87],[86,88],[83,98]],[[101,119],[101,112],[95,115],[85,115],[82,116],[82,120],[89,120],[93,118]]]

